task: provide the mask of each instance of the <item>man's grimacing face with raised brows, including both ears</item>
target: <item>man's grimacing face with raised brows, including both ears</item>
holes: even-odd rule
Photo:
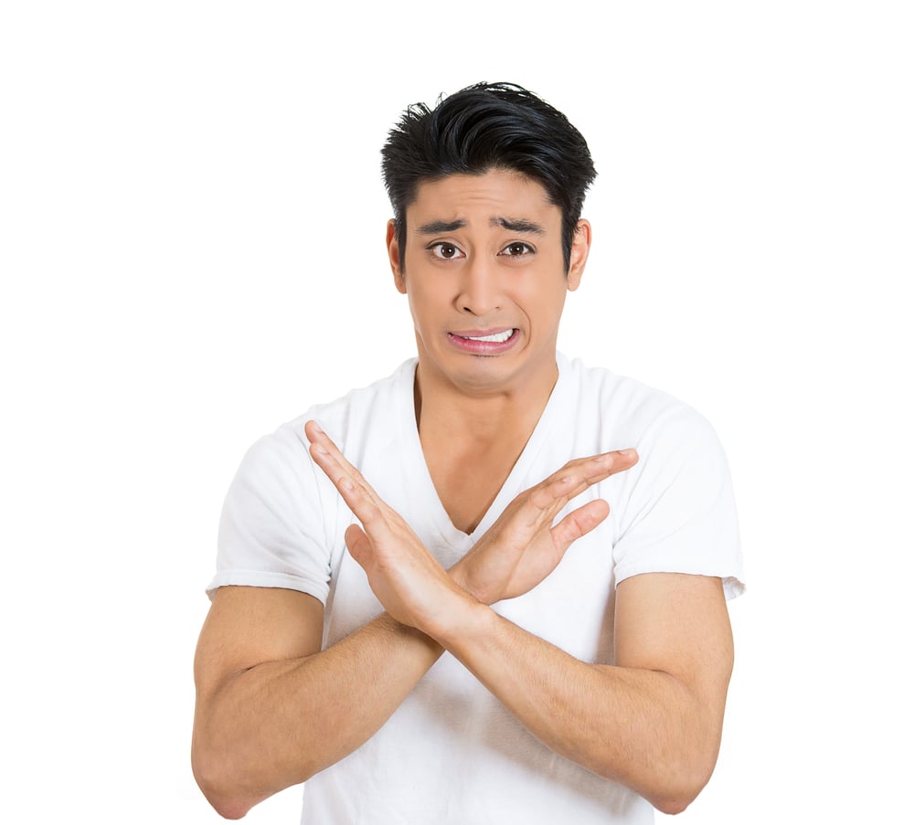
[[[406,249],[388,224],[388,253],[409,296],[423,392],[441,381],[474,395],[551,389],[565,296],[590,249],[587,221],[567,275],[561,210],[525,175],[493,170],[423,183],[406,221]]]

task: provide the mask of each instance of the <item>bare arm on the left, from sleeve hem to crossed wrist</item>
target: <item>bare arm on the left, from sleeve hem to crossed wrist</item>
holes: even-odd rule
[[[306,594],[220,587],[194,663],[194,775],[239,819],[361,745],[441,647],[382,614],[321,651],[324,608]]]

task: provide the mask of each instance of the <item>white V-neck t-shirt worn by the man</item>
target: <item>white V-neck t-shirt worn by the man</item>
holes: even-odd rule
[[[345,551],[355,521],[308,454],[315,418],[441,565],[452,566],[515,496],[568,460],[634,447],[631,469],[591,487],[610,516],[572,545],[526,595],[494,609],[582,661],[612,664],[615,587],[640,573],[720,576],[742,592],[739,533],[727,462],[707,421],[630,378],[557,355],[558,382],[489,512],[471,534],[448,518],[416,428],[415,360],[260,439],[241,463],[219,526],[225,585],[290,587],[324,602],[324,646],[381,607]],[[306,709],[303,708],[303,713]],[[654,821],[633,791],[542,745],[448,653],[363,746],[304,785],[303,822],[575,825]]]

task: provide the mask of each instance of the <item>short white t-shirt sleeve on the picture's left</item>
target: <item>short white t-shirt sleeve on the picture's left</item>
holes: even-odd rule
[[[219,519],[216,576],[227,585],[286,587],[326,602],[333,545],[314,463],[292,425],[257,441],[241,461]]]

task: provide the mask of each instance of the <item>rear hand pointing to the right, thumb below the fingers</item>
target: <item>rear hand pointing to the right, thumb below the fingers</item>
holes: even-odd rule
[[[552,526],[561,509],[591,484],[628,470],[637,460],[635,450],[618,450],[569,461],[518,495],[473,549],[452,566],[452,578],[487,605],[537,587],[556,569],[569,546],[610,513],[610,505],[596,499]]]

